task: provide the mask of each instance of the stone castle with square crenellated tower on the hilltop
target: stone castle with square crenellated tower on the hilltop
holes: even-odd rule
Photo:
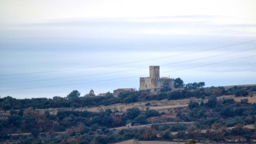
[[[165,87],[174,89],[174,79],[168,77],[160,78],[159,69],[159,66],[149,66],[149,77],[139,78],[139,90],[154,90]]]

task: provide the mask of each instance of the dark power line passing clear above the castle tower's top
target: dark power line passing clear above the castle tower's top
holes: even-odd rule
[[[256,41],[256,40],[253,40],[253,41]],[[152,59],[144,59],[144,60],[140,60],[140,61],[116,63],[116,64],[101,65],[101,66],[93,66],[93,67],[84,67],[84,68],[77,68],[77,69],[42,71],[42,72],[33,72],[33,73],[5,74],[5,75],[0,75],[0,76],[27,75],[27,74],[42,74],[42,73],[53,73],[53,72],[61,72],[61,71],[72,71],[72,70],[81,70],[81,69],[90,69],[90,68],[98,68],[98,67],[106,67],[106,66],[123,65],[123,64],[128,64],[128,63],[144,62],[144,61],[150,61],[150,60],[155,60],[155,59],[162,59],[162,58],[169,58],[169,57],[175,57],[175,56],[186,55],[186,54],[199,53],[199,52],[202,52],[202,51],[209,51],[209,50],[214,50],[214,49],[220,49],[220,48],[223,48],[223,47],[229,47],[229,46],[239,45],[239,44],[243,44],[243,43],[249,43],[249,42],[253,42],[253,41],[247,41],[247,42],[242,42],[242,43],[236,43],[236,44],[233,44],[233,45],[227,45],[227,46],[216,47],[216,48],[212,48],[212,49],[194,51],[194,52],[184,53],[184,54],[171,55],[171,56],[166,56],[166,57],[159,57],[159,58],[152,58]]]

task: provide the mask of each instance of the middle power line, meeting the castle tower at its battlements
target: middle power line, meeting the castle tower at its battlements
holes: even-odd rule
[[[173,65],[173,64],[184,63],[184,62],[197,61],[197,60],[201,60],[201,59],[213,58],[213,57],[218,57],[218,56],[228,55],[228,54],[233,54],[233,53],[239,53],[239,52],[242,52],[242,51],[253,50],[253,49],[256,49],[256,47],[255,48],[251,48],[251,49],[241,50],[241,51],[235,51],[235,52],[232,52],[232,53],[226,53],[226,54],[221,54],[221,55],[214,55],[214,56],[211,56],[211,57],[192,59],[192,60],[188,60],[188,61],[169,63],[169,64],[165,64],[165,65],[160,65],[160,66],[166,66],[166,65]],[[113,73],[120,73],[120,72],[133,71],[133,70],[140,70],[140,69],[146,69],[146,68],[148,68],[148,67],[137,68],[137,69],[130,69],[130,70],[122,70],[122,71],[113,71],[113,72],[108,72],[108,73],[79,75],[79,76],[73,76],[73,77],[52,78],[52,79],[38,79],[38,80],[30,80],[30,81],[3,82],[3,83],[0,83],[0,84],[23,83],[23,82],[38,82],[38,81],[51,81],[51,80],[68,79],[68,78],[88,77],[88,76],[94,76],[94,75],[113,74]]]

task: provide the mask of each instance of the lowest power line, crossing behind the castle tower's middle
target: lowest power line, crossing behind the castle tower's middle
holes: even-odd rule
[[[245,58],[250,58],[250,57],[255,57],[255,56],[256,56],[256,55],[249,56],[249,57],[238,58],[238,59],[233,59],[233,60],[229,60],[229,61],[222,61],[222,62],[210,63],[210,64],[207,64],[207,65],[201,65],[201,66],[188,67],[188,68],[184,68],[184,69],[177,69],[177,70],[165,71],[165,72],[162,72],[162,73],[168,73],[168,72],[173,72],[173,71],[192,69],[192,68],[196,68],[196,67],[203,67],[203,66],[215,65],[215,64],[218,64],[218,63],[231,62],[231,61],[236,61],[236,60],[239,60],[239,59],[245,59]],[[145,74],[145,75],[147,75],[147,74]],[[41,89],[41,88],[48,88],[48,87],[69,86],[69,85],[81,85],[81,84],[85,84],[85,83],[105,82],[105,81],[113,81],[113,80],[118,80],[118,79],[142,77],[142,76],[145,76],[145,75],[136,75],[136,76],[132,76],[132,77],[123,77],[123,78],[115,78],[115,79],[106,79],[106,80],[101,80],[101,81],[91,81],[91,82],[82,82],[82,83],[71,83],[71,84],[65,84],[65,85],[30,87],[30,88],[23,88],[23,89],[9,89],[9,90],[0,90],[0,91],[28,90],[28,89]]]

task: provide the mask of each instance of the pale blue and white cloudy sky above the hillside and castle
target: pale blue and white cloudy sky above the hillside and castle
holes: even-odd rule
[[[1,0],[0,96],[138,89],[151,65],[160,66],[160,77],[185,83],[256,84],[255,6],[254,0]]]

